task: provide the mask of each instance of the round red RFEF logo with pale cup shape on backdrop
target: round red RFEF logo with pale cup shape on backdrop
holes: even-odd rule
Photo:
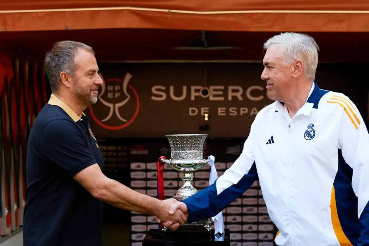
[[[99,93],[99,100],[90,106],[94,121],[108,130],[121,130],[135,121],[139,111],[139,98],[136,90],[128,84],[132,78],[127,73],[124,80],[104,80]]]

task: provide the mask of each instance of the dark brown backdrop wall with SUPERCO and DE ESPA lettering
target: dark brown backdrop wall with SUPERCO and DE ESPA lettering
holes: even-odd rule
[[[99,101],[86,110],[97,137],[164,137],[207,133],[247,137],[255,115],[272,103],[259,63],[101,63],[105,83]],[[365,64],[321,63],[321,89],[346,94],[366,119],[368,85],[358,71]],[[205,76],[206,71],[206,76]],[[210,96],[200,95],[201,87]],[[205,114],[210,114],[206,121]],[[199,128],[207,124],[210,129]]]

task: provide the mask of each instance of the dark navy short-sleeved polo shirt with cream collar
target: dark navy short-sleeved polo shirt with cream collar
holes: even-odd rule
[[[102,201],[73,179],[103,166],[85,115],[54,95],[39,112],[27,147],[24,246],[102,246]]]

